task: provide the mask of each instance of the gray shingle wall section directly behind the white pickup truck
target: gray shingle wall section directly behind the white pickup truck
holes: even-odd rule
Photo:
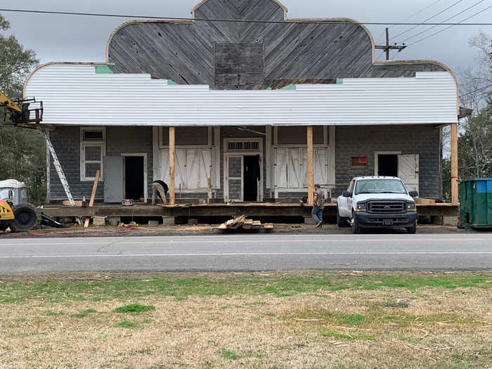
[[[354,176],[373,176],[375,151],[419,154],[419,195],[442,198],[441,131],[431,125],[337,127],[335,139],[335,197]],[[351,157],[368,157],[368,169],[350,169]]]

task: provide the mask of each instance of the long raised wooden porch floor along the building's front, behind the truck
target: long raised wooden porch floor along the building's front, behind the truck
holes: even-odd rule
[[[458,216],[458,206],[448,203],[417,205],[420,216]],[[311,206],[299,203],[245,202],[234,204],[157,205],[133,206],[95,204],[93,207],[45,205],[41,211],[51,217],[68,216],[310,216]],[[336,203],[325,205],[325,216],[336,216]]]

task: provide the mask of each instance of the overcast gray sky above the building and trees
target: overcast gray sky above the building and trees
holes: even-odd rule
[[[422,22],[439,13],[458,0],[283,0],[288,8],[288,18],[354,18],[360,22]],[[436,16],[429,22],[442,22],[479,0],[461,0],[458,4]],[[1,1],[0,8],[22,8],[42,11],[70,11],[89,13],[117,13],[164,17],[190,17],[190,10],[198,0],[23,0],[22,2]],[[434,4],[435,3],[435,4]],[[433,4],[425,11],[423,8]],[[469,11],[448,22],[459,22],[492,5],[492,0],[483,0]],[[420,13],[408,18],[413,13]],[[48,61],[105,61],[105,45],[112,30],[125,22],[125,18],[86,17],[78,15],[42,15],[2,12],[11,22],[10,32],[27,48],[36,51],[41,63]],[[492,8],[466,22],[492,22]],[[412,26],[390,26],[396,35]],[[428,27],[428,26],[427,26]],[[384,26],[368,26],[377,43],[384,41]],[[418,26],[392,41],[417,41],[443,27],[436,27],[420,36],[426,26]],[[460,68],[474,63],[474,51],[468,39],[480,30],[492,34],[492,26],[455,26],[434,37],[396,53],[394,59],[434,59],[445,63],[458,72]],[[380,52],[377,52],[377,56]]]

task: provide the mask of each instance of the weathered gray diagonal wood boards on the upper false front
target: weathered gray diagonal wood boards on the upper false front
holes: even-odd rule
[[[373,44],[361,25],[284,21],[284,9],[273,0],[208,0],[194,13],[196,19],[282,22],[129,22],[109,41],[112,70],[212,89],[266,89],[285,79],[413,77],[415,72],[446,70],[438,63],[374,65]]]

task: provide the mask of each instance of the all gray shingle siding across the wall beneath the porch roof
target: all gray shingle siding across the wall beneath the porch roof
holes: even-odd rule
[[[255,127],[263,131],[264,127]],[[80,141],[79,127],[57,127],[51,131],[53,147],[58,154],[67,181],[70,184],[75,199],[84,196],[89,199],[93,181],[80,181]],[[442,198],[441,191],[441,139],[440,130],[431,125],[418,126],[357,126],[337,127],[335,142],[335,177],[337,188],[332,191],[332,197],[339,195],[354,176],[370,176],[374,174],[375,151],[401,151],[403,154],[419,154],[420,160],[420,195],[424,198]],[[221,190],[216,191],[216,198],[224,197],[224,138],[264,138],[248,131],[240,131],[236,127],[221,127]],[[148,196],[152,195],[153,180],[153,148],[152,127],[107,127],[106,155],[121,155],[122,153],[147,153]],[[368,157],[368,169],[350,169],[351,157]],[[265,164],[263,162],[262,164]],[[271,170],[274,170],[273,163]],[[264,183],[266,183],[264,168]],[[103,200],[103,182],[98,185],[96,200]],[[65,200],[66,195],[53,160],[50,161],[50,199]],[[264,186],[264,197],[268,198],[270,188]],[[305,193],[280,193],[279,197],[302,198]],[[183,198],[206,198],[205,193],[183,194]],[[176,198],[180,198],[176,188]]]

